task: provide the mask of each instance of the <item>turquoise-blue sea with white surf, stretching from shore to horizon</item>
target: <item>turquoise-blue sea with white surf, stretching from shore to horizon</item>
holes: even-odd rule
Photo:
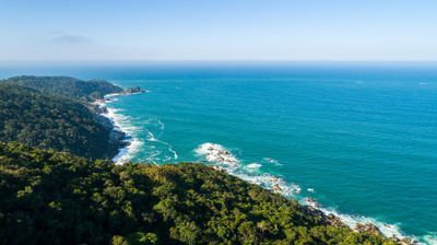
[[[437,63],[0,68],[1,78],[23,73],[147,90],[107,104],[132,137],[122,160],[217,165],[303,202],[315,198],[346,222],[436,243]]]

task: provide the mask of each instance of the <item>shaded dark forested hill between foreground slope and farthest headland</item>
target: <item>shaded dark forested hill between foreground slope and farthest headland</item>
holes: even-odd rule
[[[120,145],[103,120],[82,103],[0,83],[0,141],[111,158]]]

